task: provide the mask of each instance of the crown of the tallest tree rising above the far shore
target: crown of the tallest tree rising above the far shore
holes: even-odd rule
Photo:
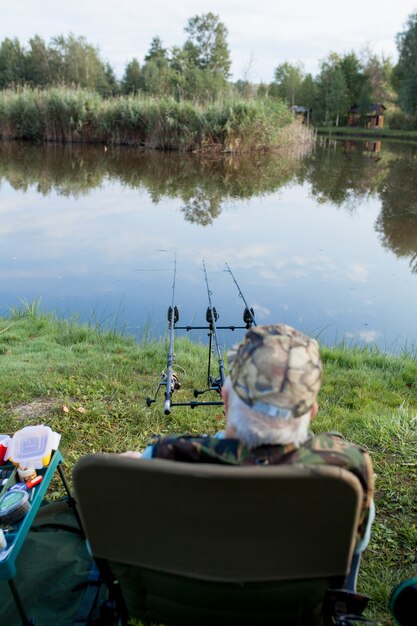
[[[188,20],[185,32],[189,37],[185,49],[202,70],[230,76],[230,53],[227,46],[227,28],[217,15],[204,13]]]

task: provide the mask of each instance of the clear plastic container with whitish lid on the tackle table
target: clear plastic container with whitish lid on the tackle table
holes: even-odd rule
[[[49,426],[25,426],[11,438],[5,458],[20,467],[42,469],[49,465],[60,439],[61,435]]]

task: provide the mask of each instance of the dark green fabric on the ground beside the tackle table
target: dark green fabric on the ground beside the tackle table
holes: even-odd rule
[[[43,504],[17,558],[14,578],[25,612],[36,626],[88,623],[83,619],[100,592],[99,581],[88,585],[92,564],[68,501]],[[0,624],[21,623],[8,581],[0,580]]]

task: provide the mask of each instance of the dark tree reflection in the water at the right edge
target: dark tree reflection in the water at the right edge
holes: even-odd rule
[[[417,148],[382,142],[325,142],[307,157],[298,180],[319,202],[355,211],[366,198],[381,202],[375,222],[384,247],[407,257],[417,272]]]

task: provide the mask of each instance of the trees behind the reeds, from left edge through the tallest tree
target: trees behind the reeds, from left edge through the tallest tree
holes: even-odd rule
[[[154,37],[142,64],[133,58],[120,81],[84,37],[59,35],[49,43],[35,35],[24,47],[6,38],[0,45],[0,89],[56,85],[93,89],[103,96],[143,93],[180,99],[215,99],[231,85],[227,29],[207,13],[188,20],[183,46],[164,48]]]

